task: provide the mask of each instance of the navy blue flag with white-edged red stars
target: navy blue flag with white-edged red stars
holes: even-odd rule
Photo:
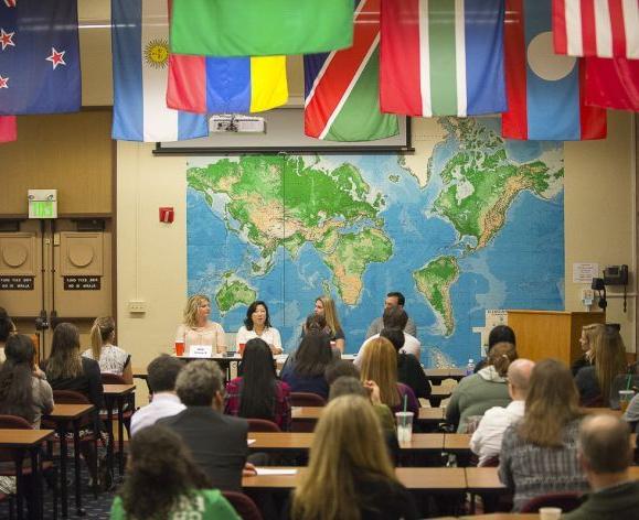
[[[81,107],[77,0],[0,3],[0,115]]]

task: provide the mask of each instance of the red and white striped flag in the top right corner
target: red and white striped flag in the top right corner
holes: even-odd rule
[[[553,0],[557,54],[639,59],[638,0]]]

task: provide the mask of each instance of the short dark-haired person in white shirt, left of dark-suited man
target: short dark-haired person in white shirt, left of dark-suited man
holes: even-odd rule
[[[175,393],[175,379],[184,367],[180,359],[162,354],[147,367],[147,382],[151,390],[151,402],[140,408],[131,416],[131,435],[143,427],[156,424],[162,418],[177,415],[187,407]]]

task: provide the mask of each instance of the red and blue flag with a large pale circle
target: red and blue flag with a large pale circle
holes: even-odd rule
[[[606,111],[584,104],[579,59],[553,53],[551,0],[507,0],[504,138],[578,141],[606,137]]]

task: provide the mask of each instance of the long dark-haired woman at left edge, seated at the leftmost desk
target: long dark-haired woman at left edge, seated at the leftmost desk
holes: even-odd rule
[[[29,336],[10,336],[7,360],[0,368],[0,414],[18,415],[40,427],[42,415],[53,410],[53,391],[44,372],[33,366],[35,347]]]

